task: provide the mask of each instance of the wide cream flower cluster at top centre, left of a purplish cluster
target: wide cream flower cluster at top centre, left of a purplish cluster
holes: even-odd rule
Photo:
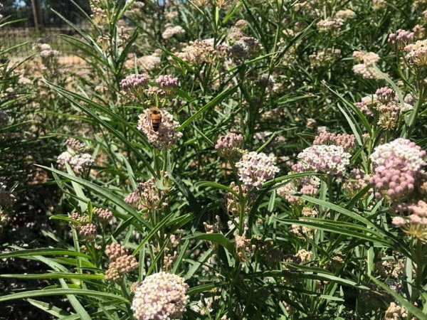
[[[214,47],[214,39],[196,40],[175,54],[187,63],[201,65],[226,58],[227,46],[216,45]]]

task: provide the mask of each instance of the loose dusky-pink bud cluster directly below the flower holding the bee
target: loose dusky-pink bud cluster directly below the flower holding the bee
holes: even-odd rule
[[[125,202],[135,205],[137,210],[147,210],[147,218],[155,210],[167,207],[167,190],[160,190],[156,186],[156,180],[150,178],[144,183],[139,183],[136,191],[130,193]]]

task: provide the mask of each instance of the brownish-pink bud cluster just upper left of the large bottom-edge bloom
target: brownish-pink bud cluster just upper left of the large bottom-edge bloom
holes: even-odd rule
[[[127,255],[127,250],[118,243],[112,243],[105,247],[105,254],[110,260],[108,270],[105,272],[105,280],[117,282],[124,274],[137,269],[139,263],[133,255]]]

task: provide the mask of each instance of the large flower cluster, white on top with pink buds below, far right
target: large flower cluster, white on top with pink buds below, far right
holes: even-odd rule
[[[377,146],[371,154],[375,174],[369,180],[376,189],[376,198],[385,197],[394,202],[412,193],[426,165],[425,157],[426,151],[408,139],[399,138]]]

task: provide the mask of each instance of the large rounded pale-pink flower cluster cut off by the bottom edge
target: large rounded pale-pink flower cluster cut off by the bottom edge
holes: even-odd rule
[[[189,297],[184,278],[158,272],[139,283],[132,301],[137,320],[182,319]]]

